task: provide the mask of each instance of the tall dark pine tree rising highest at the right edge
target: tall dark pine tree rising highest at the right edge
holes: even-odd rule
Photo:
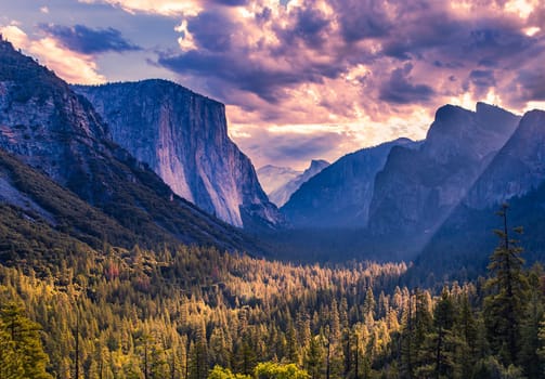
[[[517,363],[520,349],[520,324],[523,315],[527,280],[522,273],[524,261],[519,257],[522,248],[509,237],[507,226],[507,205],[497,214],[503,219],[503,230],[494,233],[499,245],[490,257],[490,279],[486,283],[492,291],[484,299],[484,321],[488,339],[501,362],[508,366]],[[522,233],[520,227],[514,230]]]

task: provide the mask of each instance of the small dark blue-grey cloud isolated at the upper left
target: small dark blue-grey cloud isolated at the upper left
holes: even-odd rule
[[[126,40],[119,30],[112,27],[93,29],[85,25],[41,24],[40,28],[65,48],[82,54],[141,50],[140,47]]]

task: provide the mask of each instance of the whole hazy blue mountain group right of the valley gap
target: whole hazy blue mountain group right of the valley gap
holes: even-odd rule
[[[286,240],[329,233],[328,249],[343,259],[415,260],[415,277],[475,277],[497,244],[495,212],[507,201],[509,225],[527,230],[529,261],[543,259],[544,142],[542,110],[520,117],[484,103],[475,112],[445,105],[424,141],[349,154],[303,184],[281,209],[293,227]],[[297,246],[299,257],[320,249]]]

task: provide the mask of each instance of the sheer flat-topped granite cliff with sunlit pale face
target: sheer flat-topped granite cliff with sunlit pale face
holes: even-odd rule
[[[251,161],[228,136],[223,104],[165,80],[73,88],[113,140],[179,196],[235,226],[280,223]]]

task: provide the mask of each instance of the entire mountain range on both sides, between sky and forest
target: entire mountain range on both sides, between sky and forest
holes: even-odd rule
[[[164,80],[68,86],[0,41],[1,259],[61,241],[185,243],[466,278],[483,271],[505,201],[529,261],[545,254],[545,112],[445,105],[424,141],[258,173],[224,112]]]

